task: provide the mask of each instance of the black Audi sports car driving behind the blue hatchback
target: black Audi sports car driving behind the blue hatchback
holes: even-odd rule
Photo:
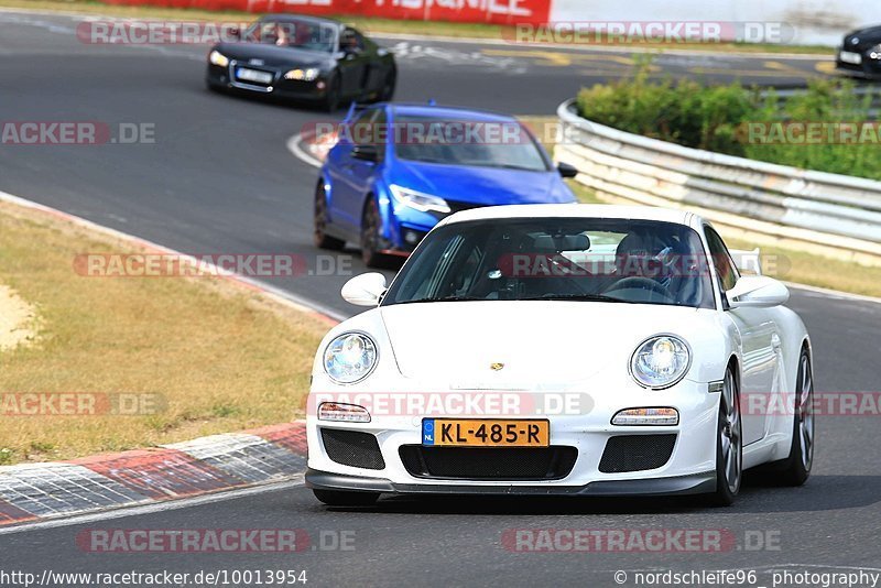
[[[208,54],[213,90],[240,90],[336,110],[345,100],[388,101],[394,56],[357,30],[330,19],[268,14]]]

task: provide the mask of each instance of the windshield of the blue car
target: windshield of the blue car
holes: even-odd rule
[[[547,172],[535,139],[516,121],[395,115],[395,155],[405,161]]]

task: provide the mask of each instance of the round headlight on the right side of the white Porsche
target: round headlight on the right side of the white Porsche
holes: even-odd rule
[[[657,335],[640,344],[630,359],[630,373],[645,388],[670,388],[683,378],[692,363],[685,341],[672,335]]]

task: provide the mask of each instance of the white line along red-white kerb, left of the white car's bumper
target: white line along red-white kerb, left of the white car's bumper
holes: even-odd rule
[[[113,519],[124,519],[127,516],[139,516],[141,514],[154,514],[157,512],[188,509],[192,507],[200,507],[203,504],[211,504],[215,502],[224,502],[227,500],[235,500],[257,494],[264,494],[267,492],[290,490],[292,488],[297,488],[304,484],[303,476],[304,476],[303,473],[300,473],[293,476],[290,480],[283,482],[273,482],[262,486],[254,486],[251,488],[240,488],[237,490],[225,490],[210,494],[202,494],[193,498],[182,498],[176,500],[168,500],[166,502],[155,502],[153,504],[144,504],[141,507],[122,507],[120,509],[96,512],[90,514],[75,514],[73,516],[64,519],[50,519],[46,521],[39,521],[35,523],[22,523],[21,525],[15,525],[15,526],[4,526],[0,527],[0,535],[28,533],[31,531],[42,531],[45,529],[56,529],[59,526],[97,523],[100,521],[110,521]]]

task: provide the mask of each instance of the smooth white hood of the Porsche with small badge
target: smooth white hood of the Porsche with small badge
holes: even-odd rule
[[[627,373],[653,335],[676,334],[695,348],[721,333],[714,312],[641,304],[436,302],[379,312],[401,373],[452,388],[572,385],[605,369]],[[492,371],[493,362],[504,368]]]

